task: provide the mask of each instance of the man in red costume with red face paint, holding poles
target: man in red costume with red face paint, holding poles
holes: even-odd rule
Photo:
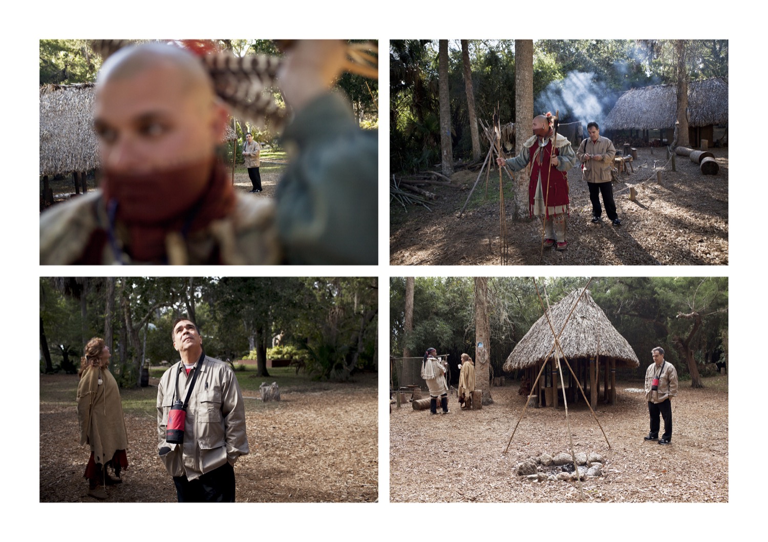
[[[528,184],[528,210],[532,216],[544,217],[545,247],[558,251],[568,248],[565,225],[568,217],[568,173],[576,164],[576,155],[568,138],[558,134],[552,151],[551,114],[533,119],[534,135],[525,141],[515,158],[496,158],[498,165],[520,171],[531,164]]]

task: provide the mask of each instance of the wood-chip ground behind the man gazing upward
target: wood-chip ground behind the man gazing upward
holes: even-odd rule
[[[48,379],[76,376],[41,376]],[[235,466],[238,502],[372,502],[378,496],[376,376],[321,391],[281,391],[262,403],[245,393],[250,454]],[[156,382],[155,382],[156,383]],[[144,388],[156,393],[153,387]],[[315,388],[316,389],[316,388]],[[249,397],[250,396],[250,397]],[[88,447],[78,446],[71,404],[40,404],[40,501],[93,502],[83,476]],[[173,480],[157,459],[157,420],[125,416],[130,467],[108,487],[108,502],[175,502]]]

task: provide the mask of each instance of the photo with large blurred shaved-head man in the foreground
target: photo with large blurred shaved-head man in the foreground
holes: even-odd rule
[[[377,264],[377,40],[39,47],[40,264]]]

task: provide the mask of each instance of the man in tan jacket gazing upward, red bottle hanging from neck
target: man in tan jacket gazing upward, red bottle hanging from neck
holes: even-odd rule
[[[172,330],[181,361],[157,385],[158,453],[179,502],[234,502],[233,466],[249,451],[240,386],[229,365],[205,355],[193,321],[178,318]],[[170,407],[187,397],[184,442],[173,444],[166,431]]]

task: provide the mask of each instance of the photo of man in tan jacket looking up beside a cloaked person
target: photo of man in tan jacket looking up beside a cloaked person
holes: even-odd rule
[[[41,503],[378,500],[378,278],[39,288]]]

